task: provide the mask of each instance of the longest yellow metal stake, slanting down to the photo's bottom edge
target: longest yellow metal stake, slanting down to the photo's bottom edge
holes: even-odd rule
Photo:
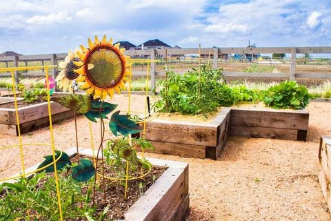
[[[49,79],[48,79],[48,66],[45,67],[45,73],[46,73],[46,85],[47,85],[48,117],[50,119],[50,140],[51,140],[51,144],[52,144],[53,161],[55,161],[56,157],[55,157],[54,135],[53,135],[53,125],[52,125],[52,111],[50,108],[50,84],[49,84]],[[57,202],[59,203],[60,220],[63,221],[61,195],[60,195],[60,189],[59,189],[59,179],[57,176],[57,164],[55,164],[55,163],[54,163],[54,176],[55,176],[55,184],[57,186]]]

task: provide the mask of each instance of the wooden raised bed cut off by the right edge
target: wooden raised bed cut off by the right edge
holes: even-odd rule
[[[319,184],[331,211],[331,136],[322,136],[319,144]]]

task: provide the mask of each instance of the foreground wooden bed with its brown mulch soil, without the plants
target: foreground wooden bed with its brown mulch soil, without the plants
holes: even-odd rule
[[[76,148],[71,148],[66,153],[68,153],[72,162],[75,162],[77,158]],[[80,149],[79,156],[83,158],[88,157],[92,160],[93,153],[91,149]],[[99,158],[101,159],[101,156]],[[119,182],[109,182],[107,184],[106,202],[110,206],[108,206],[103,220],[179,221],[185,218],[185,213],[189,207],[188,164],[152,158],[146,159],[153,165],[152,171],[143,180],[130,181],[128,198],[123,198],[124,186],[119,184]],[[39,164],[32,166],[26,171],[34,171],[38,166]],[[101,169],[99,170],[101,173]],[[105,175],[113,176],[114,174],[106,169]],[[50,177],[50,179],[54,178]],[[43,180],[46,180],[46,177],[43,177]],[[46,182],[43,180],[39,181],[38,185]],[[14,183],[15,180],[10,180],[9,182]],[[39,188],[41,187],[39,186]],[[87,195],[88,185],[83,185],[81,191],[83,197]],[[0,198],[4,197],[3,194],[6,193],[2,193]],[[97,191],[96,200],[97,202],[103,202],[103,193],[101,191]],[[77,206],[82,209],[82,205],[79,203]],[[103,212],[105,207],[106,205],[104,204],[98,204],[97,211]],[[37,215],[33,211],[30,212],[30,215]],[[69,220],[77,219],[72,218]]]

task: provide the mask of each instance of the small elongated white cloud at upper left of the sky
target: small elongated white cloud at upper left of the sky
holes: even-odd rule
[[[26,19],[26,23],[30,24],[49,24],[49,23],[65,23],[71,21],[71,17],[68,16],[68,12],[52,13],[49,15],[35,15]]]

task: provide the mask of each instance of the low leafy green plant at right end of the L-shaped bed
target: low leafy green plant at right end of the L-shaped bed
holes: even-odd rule
[[[270,87],[264,97],[264,104],[272,108],[302,109],[308,106],[312,97],[305,86],[296,81],[283,81]]]

